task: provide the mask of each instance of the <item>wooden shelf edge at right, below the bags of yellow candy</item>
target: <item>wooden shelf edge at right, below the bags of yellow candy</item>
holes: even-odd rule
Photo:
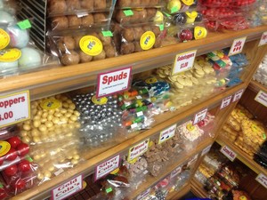
[[[237,158],[257,174],[263,173],[265,176],[267,175],[267,170],[265,170],[261,165],[255,163],[252,156],[248,156],[245,152],[243,152],[240,148],[236,147],[229,140],[223,138],[222,135],[219,135],[217,137],[216,142],[222,147],[227,146],[231,148],[231,150],[233,150],[238,155]]]

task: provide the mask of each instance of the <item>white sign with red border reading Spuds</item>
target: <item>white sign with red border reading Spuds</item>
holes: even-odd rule
[[[96,98],[128,90],[132,67],[101,73],[97,76]]]

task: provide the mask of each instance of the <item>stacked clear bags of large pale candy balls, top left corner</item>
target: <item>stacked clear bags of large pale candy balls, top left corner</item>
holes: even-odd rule
[[[29,38],[30,20],[17,20],[20,4],[0,1],[0,76],[13,76],[57,64],[53,57],[39,51]]]

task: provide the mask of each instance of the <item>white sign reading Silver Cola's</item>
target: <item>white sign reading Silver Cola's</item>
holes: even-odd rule
[[[109,160],[97,165],[94,170],[94,180],[99,180],[105,175],[116,170],[119,167],[119,155],[110,158]]]

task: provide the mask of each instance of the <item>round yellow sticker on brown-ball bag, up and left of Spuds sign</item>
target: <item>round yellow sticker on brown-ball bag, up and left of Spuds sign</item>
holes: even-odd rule
[[[79,45],[83,52],[91,56],[99,55],[103,51],[103,44],[95,36],[83,36]]]

